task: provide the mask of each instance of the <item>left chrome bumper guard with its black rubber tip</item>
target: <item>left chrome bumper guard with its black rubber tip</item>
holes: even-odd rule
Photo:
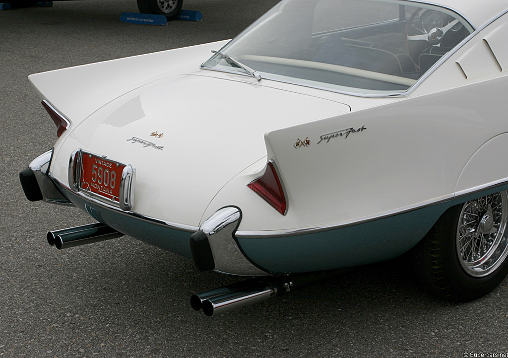
[[[54,185],[48,176],[53,149],[30,162],[28,168],[19,173],[25,196],[30,201],[43,200],[58,205],[73,205]]]

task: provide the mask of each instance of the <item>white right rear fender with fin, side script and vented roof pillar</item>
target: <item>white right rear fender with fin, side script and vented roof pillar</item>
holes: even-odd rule
[[[352,106],[351,113],[268,133],[268,159],[280,170],[288,213],[282,217],[261,212],[250,203],[249,196],[255,195],[245,188],[242,201],[249,203],[238,204],[244,208],[239,235],[362,222],[506,181],[508,163],[500,156],[508,145],[505,135],[499,134],[508,132],[501,107],[508,92],[508,72],[501,71],[492,55],[492,51],[502,54],[502,48],[491,45],[491,51],[484,40],[505,31],[506,17],[473,37],[398,102],[375,108],[364,105],[363,110],[361,105]],[[465,61],[476,64],[467,68],[477,75],[465,77],[458,65]],[[360,100],[367,104],[373,99]],[[316,144],[323,134],[362,126],[367,129],[347,139]],[[292,139],[307,136],[309,147],[291,145]],[[232,193],[238,200],[241,183],[264,170],[249,169],[238,184],[232,181],[216,196],[208,215],[212,207],[231,201]],[[252,173],[255,169],[261,173]]]

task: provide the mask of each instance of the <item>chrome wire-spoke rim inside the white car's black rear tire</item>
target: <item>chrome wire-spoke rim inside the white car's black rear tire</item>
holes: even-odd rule
[[[487,276],[508,254],[506,191],[471,200],[462,206],[456,235],[459,262],[474,277]]]

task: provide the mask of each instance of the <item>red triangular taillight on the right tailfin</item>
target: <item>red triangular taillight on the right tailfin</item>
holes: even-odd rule
[[[280,214],[285,215],[287,205],[284,190],[273,162],[268,162],[263,176],[250,183],[248,187],[265,199]]]

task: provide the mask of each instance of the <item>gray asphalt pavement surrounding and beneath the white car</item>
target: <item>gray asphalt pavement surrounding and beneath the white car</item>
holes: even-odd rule
[[[0,11],[1,357],[367,357],[508,352],[508,281],[483,299],[444,303],[400,262],[223,316],[188,297],[234,281],[130,237],[57,251],[50,229],[91,222],[28,202],[18,172],[55,140],[26,77],[238,34],[275,0],[186,0],[203,22],[125,24],[135,0]],[[78,84],[77,84],[78,85]]]

